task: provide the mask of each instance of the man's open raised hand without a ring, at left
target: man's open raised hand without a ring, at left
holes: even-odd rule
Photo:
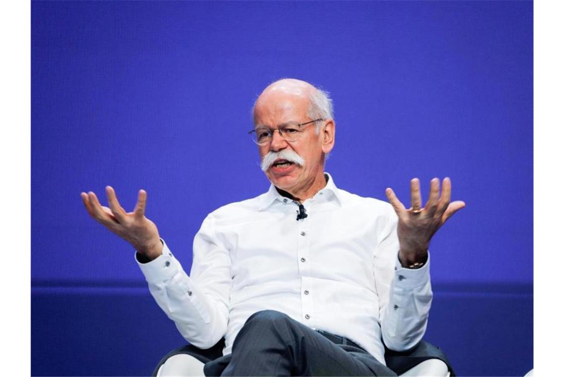
[[[128,241],[138,252],[140,262],[149,262],[159,257],[163,252],[163,243],[159,239],[159,231],[155,223],[145,217],[147,193],[140,190],[137,205],[133,212],[125,212],[120,206],[114,189],[106,186],[106,196],[110,208],[101,206],[96,194],[80,194],[86,210],[96,220],[110,231]]]

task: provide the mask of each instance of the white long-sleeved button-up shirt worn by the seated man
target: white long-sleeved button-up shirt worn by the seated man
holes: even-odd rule
[[[428,262],[402,268],[398,217],[384,201],[338,189],[332,177],[303,205],[271,185],[206,217],[194,237],[190,276],[164,244],[139,263],[151,294],[199,348],[225,337],[224,354],[247,318],[277,310],[315,330],[347,337],[380,362],[424,335],[432,302]],[[164,242],[163,242],[164,243]]]

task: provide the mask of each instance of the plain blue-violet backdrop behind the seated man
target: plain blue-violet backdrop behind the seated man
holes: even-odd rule
[[[533,366],[532,2],[32,2],[32,374],[147,375],[183,343],[80,192],[147,190],[186,270],[217,207],[268,181],[264,86],[331,92],[338,187],[408,203],[450,176],[426,336],[460,375]]]

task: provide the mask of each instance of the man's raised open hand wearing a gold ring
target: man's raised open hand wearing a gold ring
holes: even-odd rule
[[[425,262],[428,255],[429,241],[434,233],[465,202],[451,200],[451,181],[445,178],[442,183],[440,197],[440,179],[434,178],[429,185],[429,198],[424,208],[421,207],[420,180],[410,181],[411,207],[406,209],[398,200],[392,188],[385,190],[386,197],[398,215],[398,241],[400,251],[398,257],[403,267],[419,265]]]

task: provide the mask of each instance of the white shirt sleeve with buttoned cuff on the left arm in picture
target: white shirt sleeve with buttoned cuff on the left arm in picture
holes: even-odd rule
[[[231,259],[216,236],[212,214],[194,237],[190,276],[164,241],[162,255],[148,263],[137,263],[151,295],[190,344],[210,348],[225,335]]]

